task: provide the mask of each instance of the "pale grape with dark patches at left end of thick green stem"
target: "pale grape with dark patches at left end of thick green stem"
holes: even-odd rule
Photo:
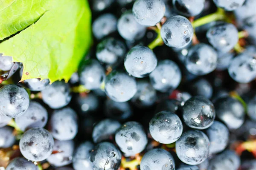
[[[161,28],[163,42],[173,48],[183,48],[190,43],[194,34],[188,19],[180,15],[168,18]]]

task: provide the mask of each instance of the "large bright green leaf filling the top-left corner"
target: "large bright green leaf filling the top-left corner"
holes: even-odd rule
[[[87,0],[0,0],[0,18],[0,53],[23,62],[22,81],[68,81],[90,48]]]

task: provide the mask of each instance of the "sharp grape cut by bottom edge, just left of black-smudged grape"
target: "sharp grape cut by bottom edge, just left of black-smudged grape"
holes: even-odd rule
[[[175,161],[164,149],[149,150],[140,162],[141,170],[175,170]]]

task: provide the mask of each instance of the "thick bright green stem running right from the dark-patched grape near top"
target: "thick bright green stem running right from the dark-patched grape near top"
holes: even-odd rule
[[[224,20],[225,17],[226,17],[225,11],[221,8],[218,8],[218,10],[215,13],[206,15],[204,17],[201,17],[201,18],[195,20],[192,23],[192,26],[194,28],[197,28],[199,26],[203,26],[204,24],[210,23],[212,21]]]

